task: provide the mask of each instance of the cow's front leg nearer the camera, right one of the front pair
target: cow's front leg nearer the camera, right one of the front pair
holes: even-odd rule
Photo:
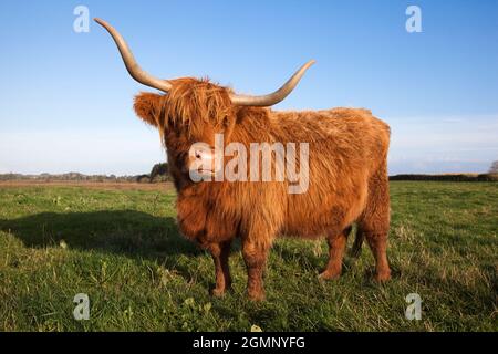
[[[270,244],[264,241],[245,239],[242,241],[242,257],[247,267],[247,292],[251,300],[263,300],[264,289],[262,275],[267,263]]]

